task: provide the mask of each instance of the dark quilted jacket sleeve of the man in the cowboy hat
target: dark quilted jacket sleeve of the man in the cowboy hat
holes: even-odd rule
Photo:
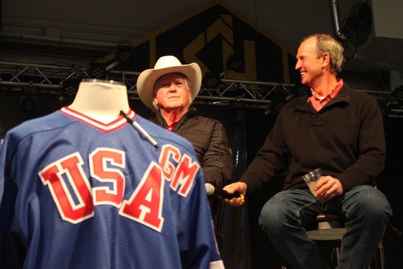
[[[233,156],[224,126],[215,122],[202,167],[207,183],[222,188],[229,183],[234,170]]]

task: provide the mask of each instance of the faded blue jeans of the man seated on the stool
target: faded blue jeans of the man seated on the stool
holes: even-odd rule
[[[259,224],[278,252],[298,268],[327,268],[305,225],[319,213],[346,217],[338,268],[367,268],[382,239],[392,210],[386,197],[372,186],[358,186],[326,203],[309,189],[281,191],[263,206]]]

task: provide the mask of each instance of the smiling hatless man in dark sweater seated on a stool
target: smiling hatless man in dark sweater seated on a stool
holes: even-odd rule
[[[284,187],[263,206],[259,224],[279,253],[297,268],[327,268],[305,225],[319,213],[346,217],[338,268],[366,268],[391,216],[376,188],[385,139],[376,100],[341,79],[343,48],[327,34],[306,37],[295,69],[309,94],[286,103],[263,147],[228,193],[253,193],[285,171]],[[315,195],[302,176],[321,168]],[[223,199],[239,206],[241,198]]]

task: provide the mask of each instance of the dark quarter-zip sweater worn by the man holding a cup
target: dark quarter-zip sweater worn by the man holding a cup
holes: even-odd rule
[[[317,112],[308,97],[282,107],[240,179],[249,193],[286,170],[283,190],[307,188],[301,176],[316,168],[338,179],[344,192],[364,184],[375,186],[385,160],[382,115],[375,98],[344,83]]]

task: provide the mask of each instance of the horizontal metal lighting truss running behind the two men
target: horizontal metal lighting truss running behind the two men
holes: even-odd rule
[[[106,68],[108,69],[108,68]],[[56,94],[63,96],[66,86],[78,84],[83,78],[90,78],[88,68],[77,65],[26,64],[0,61],[0,94],[24,93]],[[127,85],[130,99],[139,99],[136,89],[139,72],[109,69],[107,80],[123,82]],[[72,86],[70,86],[72,87]],[[294,84],[220,79],[216,88],[202,85],[195,100],[196,103],[209,105],[232,105],[236,107],[269,109],[276,102],[285,103],[294,97],[297,86]],[[34,90],[33,90],[34,89]],[[374,96],[379,102],[391,103],[391,92],[363,90]],[[403,118],[403,110],[391,109],[388,117]]]

